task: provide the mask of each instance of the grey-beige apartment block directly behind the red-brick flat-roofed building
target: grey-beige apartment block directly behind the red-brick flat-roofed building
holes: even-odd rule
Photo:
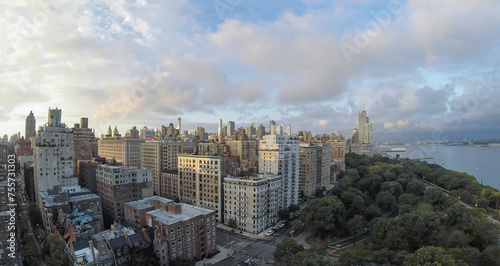
[[[101,164],[96,170],[96,187],[104,215],[121,221],[125,203],[153,196],[153,175],[151,170]]]

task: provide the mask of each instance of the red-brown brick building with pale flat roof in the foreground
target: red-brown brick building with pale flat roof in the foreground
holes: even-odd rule
[[[201,260],[217,250],[213,210],[157,196],[128,202],[124,208],[128,222],[154,228],[151,240],[159,265],[171,265],[177,257]]]

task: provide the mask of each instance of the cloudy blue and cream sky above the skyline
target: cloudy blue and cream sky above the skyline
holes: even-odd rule
[[[500,135],[497,0],[0,1],[0,134],[215,132],[270,120],[376,141]]]

